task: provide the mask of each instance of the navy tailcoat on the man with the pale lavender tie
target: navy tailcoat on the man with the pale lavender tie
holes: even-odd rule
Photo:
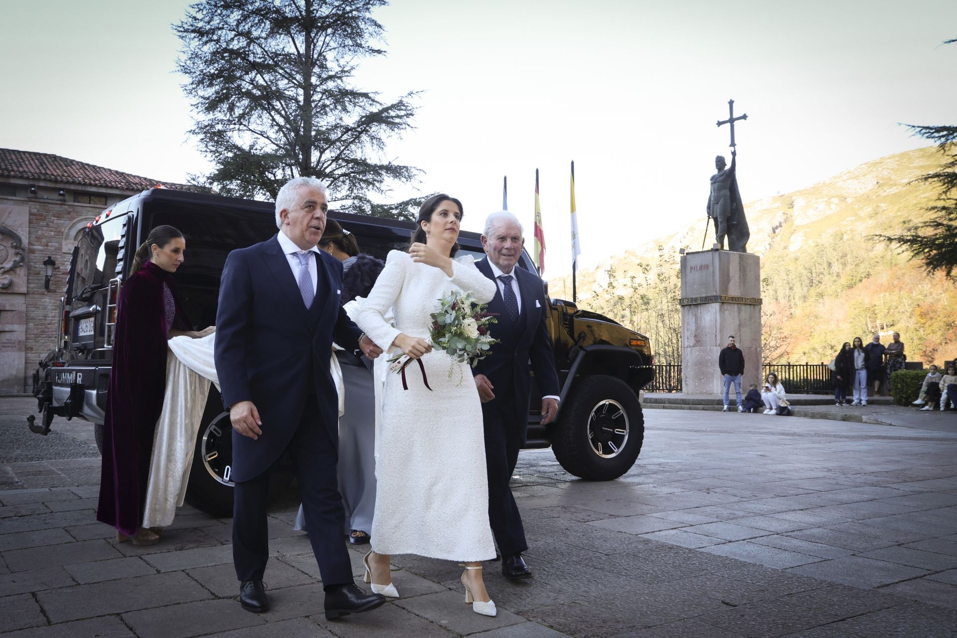
[[[234,481],[255,478],[276,462],[300,425],[310,393],[319,404],[317,427],[338,446],[332,341],[358,347],[362,331],[339,304],[342,263],[323,251],[313,254],[318,276],[308,310],[275,236],[233,251],[223,267],[215,339],[223,404],[252,401],[262,420],[256,440],[233,432]]]

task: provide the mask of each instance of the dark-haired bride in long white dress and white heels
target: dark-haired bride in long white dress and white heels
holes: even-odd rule
[[[406,368],[408,389],[400,375],[389,372],[382,391],[366,582],[377,593],[398,596],[389,573],[391,554],[461,561],[466,602],[477,613],[494,616],[479,563],[495,558],[479,392],[468,363],[456,363],[428,341],[429,314],[441,297],[458,290],[487,303],[495,295],[495,282],[479,272],[471,256],[452,258],[461,217],[455,198],[439,194],[426,200],[409,253],[389,253],[356,319],[383,350],[401,350],[425,368],[424,373],[416,363]],[[385,319],[389,308],[395,327]]]

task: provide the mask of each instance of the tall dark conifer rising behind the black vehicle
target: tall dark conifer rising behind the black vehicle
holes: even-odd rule
[[[298,176],[323,180],[332,208],[404,217],[372,195],[418,169],[384,158],[412,128],[407,93],[384,103],[351,83],[358,60],[385,55],[370,12],[386,0],[202,0],[173,26],[178,70],[195,111],[190,133],[215,168],[197,179],[222,194],[276,197]],[[194,176],[196,177],[196,176]],[[340,202],[335,206],[334,202]]]

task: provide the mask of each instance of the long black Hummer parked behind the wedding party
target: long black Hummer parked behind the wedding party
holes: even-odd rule
[[[50,431],[54,416],[96,424],[101,445],[103,411],[112,363],[120,287],[132,255],[149,231],[169,224],[187,237],[187,260],[176,274],[177,291],[195,329],[216,318],[219,276],[226,255],[276,233],[270,203],[167,188],[145,190],[104,210],[89,225],[70,262],[61,300],[54,352],[40,362],[33,392],[42,414],[27,417],[30,429]],[[329,216],[355,234],[365,253],[385,259],[405,250],[411,222],[332,211]],[[484,256],[479,234],[462,232],[460,253]],[[527,253],[519,266],[535,272]],[[547,297],[547,296],[546,296]],[[611,480],[626,473],[641,451],[644,417],[638,401],[652,381],[651,346],[644,336],[612,319],[550,300],[549,329],[562,401],[555,423],[540,424],[541,394],[533,385],[526,448],[547,448],[569,473]],[[195,443],[187,498],[217,516],[232,512],[232,437],[229,414],[215,387]]]

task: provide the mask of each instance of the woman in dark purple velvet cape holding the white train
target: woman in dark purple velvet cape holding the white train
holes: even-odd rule
[[[183,233],[171,226],[153,229],[136,252],[133,275],[123,283],[117,307],[97,520],[117,528],[118,541],[132,538],[138,545],[159,540],[140,524],[153,433],[163,410],[167,340],[174,327],[189,329],[172,277],[185,251]]]

